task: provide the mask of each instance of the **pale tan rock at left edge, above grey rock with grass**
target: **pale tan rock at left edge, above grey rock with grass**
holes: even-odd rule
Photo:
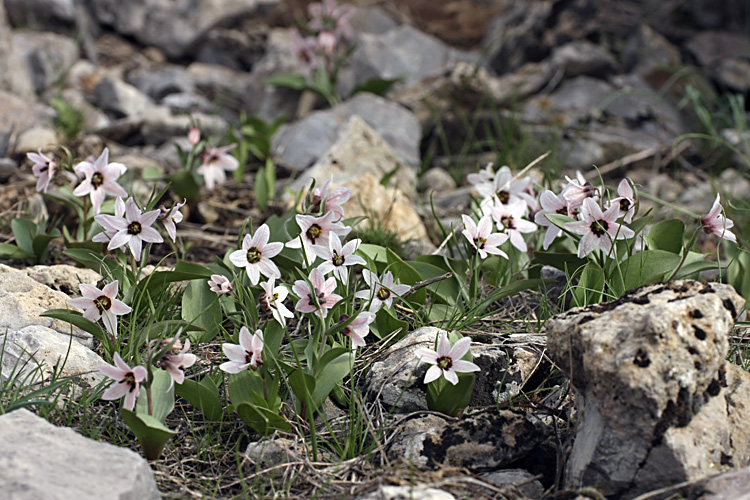
[[[91,334],[62,320],[39,316],[48,309],[71,308],[69,297],[52,290],[21,272],[0,274],[0,332],[15,332],[26,326],[41,325],[52,328],[63,339],[70,337],[86,346],[91,346]]]

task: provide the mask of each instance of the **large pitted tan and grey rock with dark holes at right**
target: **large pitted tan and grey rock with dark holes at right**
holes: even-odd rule
[[[578,422],[568,486],[619,497],[750,465],[750,379],[725,361],[732,287],[677,281],[547,322]]]

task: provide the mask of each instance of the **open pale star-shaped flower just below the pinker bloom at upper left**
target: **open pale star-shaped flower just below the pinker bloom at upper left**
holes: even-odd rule
[[[107,245],[108,250],[128,245],[135,260],[140,261],[144,241],[146,243],[161,243],[164,241],[159,232],[151,227],[159,217],[159,213],[158,209],[142,213],[138,205],[135,204],[135,200],[128,198],[128,201],[125,202],[125,218],[101,215],[94,219],[100,224],[109,224],[109,227],[117,230],[109,245]]]

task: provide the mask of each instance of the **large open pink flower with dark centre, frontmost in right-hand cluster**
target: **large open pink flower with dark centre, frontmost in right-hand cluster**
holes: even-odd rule
[[[619,203],[602,214],[599,205],[592,198],[586,198],[583,200],[581,216],[583,220],[565,224],[569,231],[583,235],[578,244],[579,258],[590,254],[597,247],[601,247],[609,255],[613,240],[632,238],[635,235],[632,229],[615,222],[620,217]]]

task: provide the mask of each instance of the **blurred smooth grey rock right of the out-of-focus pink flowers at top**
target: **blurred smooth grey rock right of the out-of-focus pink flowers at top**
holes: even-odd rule
[[[479,56],[448,47],[409,25],[380,34],[362,33],[352,56],[356,83],[371,78],[403,78],[406,84],[443,73],[458,62],[476,63]]]

